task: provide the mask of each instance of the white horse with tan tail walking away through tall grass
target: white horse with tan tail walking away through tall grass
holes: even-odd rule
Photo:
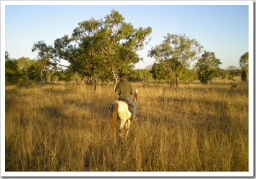
[[[135,93],[133,93],[131,95],[131,98],[133,99],[133,101],[136,103],[137,101],[137,94],[138,94],[138,90],[135,91]],[[117,120],[120,120],[120,126],[119,126],[119,137],[121,139],[123,139],[123,126],[125,126],[126,128],[126,135],[125,135],[125,139],[128,136],[129,133],[129,129],[130,129],[130,124],[131,124],[131,112],[128,110],[128,104],[120,101],[120,100],[116,100],[114,102],[111,103],[110,105],[110,115],[111,115],[111,134],[112,136],[116,136],[117,133]]]

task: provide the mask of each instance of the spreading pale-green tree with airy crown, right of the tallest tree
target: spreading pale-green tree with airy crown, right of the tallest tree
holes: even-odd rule
[[[164,41],[149,51],[149,56],[155,58],[159,63],[157,69],[162,68],[159,77],[169,80],[169,83],[175,79],[177,88],[180,77],[183,75],[183,69],[188,69],[190,63],[198,59],[201,48],[203,47],[195,39],[190,39],[185,35],[167,33]]]

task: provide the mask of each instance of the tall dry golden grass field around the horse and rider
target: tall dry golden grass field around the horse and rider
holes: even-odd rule
[[[134,85],[139,120],[117,145],[111,84],[6,87],[6,172],[249,170],[247,83]]]

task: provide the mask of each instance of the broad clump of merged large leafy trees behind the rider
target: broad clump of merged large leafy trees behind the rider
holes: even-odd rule
[[[143,49],[152,31],[151,27],[136,29],[124,20],[118,11],[112,10],[105,20],[80,22],[72,34],[79,55],[71,66],[95,79],[112,74],[116,84],[118,74],[130,71],[141,60],[136,52]]]

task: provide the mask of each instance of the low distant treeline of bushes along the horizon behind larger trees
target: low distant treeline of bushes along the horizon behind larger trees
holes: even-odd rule
[[[6,65],[6,85],[19,85],[19,86],[33,86],[37,85],[41,81],[40,77],[40,62],[30,58],[11,59],[7,58]],[[229,66],[227,69],[219,69],[216,72],[215,77],[221,79],[234,79],[234,77],[241,76],[242,71],[234,66]],[[77,78],[77,79],[76,79]],[[195,69],[183,69],[183,76],[180,82],[193,82],[198,79],[198,74]],[[81,80],[73,71],[66,69],[52,68],[43,70],[43,82],[76,82]],[[143,82],[143,84],[149,84],[151,82],[166,82],[161,77],[157,76],[153,66],[148,66],[146,69],[131,69],[128,73],[128,80],[132,82]],[[98,83],[111,82],[112,77],[108,77],[106,81],[100,81]],[[87,84],[93,84],[93,79],[87,77],[84,80]]]

